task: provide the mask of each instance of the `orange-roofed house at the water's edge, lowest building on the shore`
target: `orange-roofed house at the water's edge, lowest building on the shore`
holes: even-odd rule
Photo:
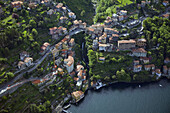
[[[73,93],[71,93],[73,101],[76,103],[78,101],[80,101],[82,98],[84,98],[84,92],[82,91],[75,91]]]

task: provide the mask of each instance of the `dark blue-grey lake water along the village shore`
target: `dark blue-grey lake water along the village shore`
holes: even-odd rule
[[[159,86],[162,85],[162,87]],[[170,81],[117,83],[98,91],[89,90],[72,113],[170,113]]]

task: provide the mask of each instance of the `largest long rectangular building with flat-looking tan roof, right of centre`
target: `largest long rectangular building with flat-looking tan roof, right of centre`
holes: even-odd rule
[[[120,50],[130,50],[136,46],[135,40],[119,40],[118,41],[118,48]]]

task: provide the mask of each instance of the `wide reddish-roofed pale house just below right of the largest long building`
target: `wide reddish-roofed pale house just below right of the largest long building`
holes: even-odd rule
[[[137,57],[146,57],[147,55],[147,51],[143,48],[138,48],[138,49],[133,49],[133,56],[137,56]]]

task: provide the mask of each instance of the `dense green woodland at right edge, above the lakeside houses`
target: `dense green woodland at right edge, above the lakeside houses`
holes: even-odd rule
[[[170,20],[166,18],[147,18],[143,22],[145,38],[149,54],[153,55],[157,66],[163,65],[163,60],[170,57]]]

